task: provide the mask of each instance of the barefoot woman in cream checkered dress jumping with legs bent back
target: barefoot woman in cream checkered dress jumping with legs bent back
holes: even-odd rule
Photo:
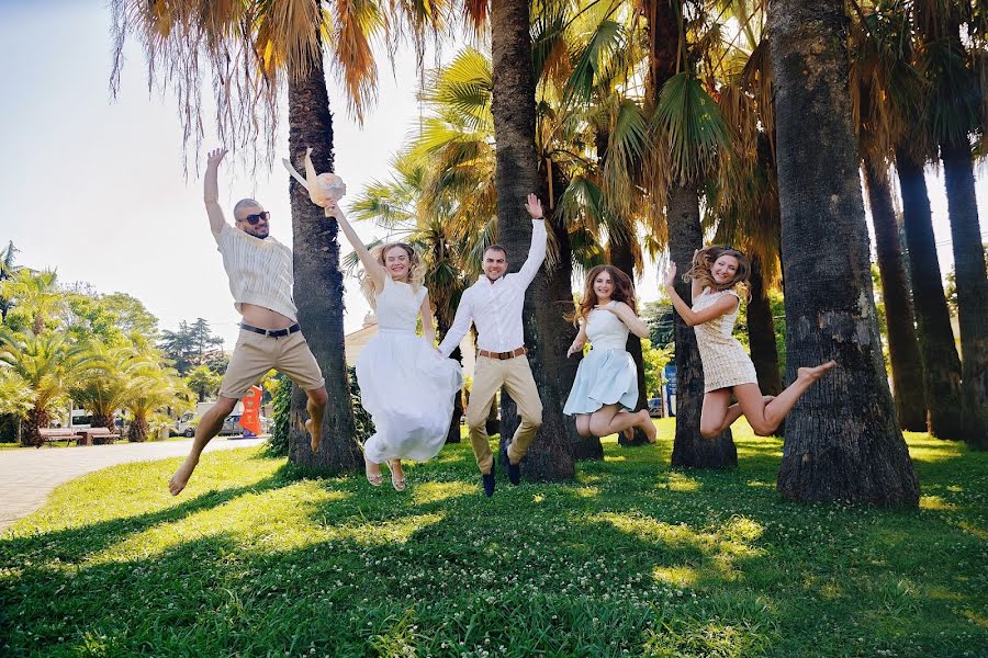
[[[714,245],[694,252],[693,264],[683,276],[693,286],[693,307],[673,286],[675,263],[671,263],[665,280],[665,291],[676,313],[696,333],[704,364],[700,433],[708,439],[720,435],[742,415],[756,434],[772,434],[800,396],[837,365],[828,361],[815,367],[800,367],[796,381],[777,397],[762,395],[751,358],[731,336],[750,273],[751,265],[743,253]],[[737,404],[731,404],[731,394]]]

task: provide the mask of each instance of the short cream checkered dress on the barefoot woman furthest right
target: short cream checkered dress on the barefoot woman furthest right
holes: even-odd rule
[[[693,300],[693,310],[703,310],[723,295],[738,297],[738,293],[732,290],[715,292],[704,288],[704,292]],[[700,361],[704,363],[704,393],[739,384],[759,383],[751,358],[741,343],[731,336],[734,320],[738,319],[738,310],[741,308],[740,299],[738,297],[738,308],[731,313],[693,328],[700,351]]]

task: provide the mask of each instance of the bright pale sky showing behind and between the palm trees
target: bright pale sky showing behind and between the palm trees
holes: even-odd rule
[[[162,328],[204,317],[231,347],[238,316],[202,207],[202,181],[194,171],[183,178],[173,97],[148,93],[139,48],[126,49],[121,93],[113,100],[110,11],[103,3],[0,0],[0,43],[9,54],[0,94],[2,246],[13,240],[21,264],[57,268],[63,282],[134,295]],[[396,66],[402,83],[382,63],[379,102],[362,127],[347,115],[338,87],[330,83],[336,169],[350,194],[389,175],[392,154],[418,116],[413,58],[402,60]],[[287,132],[282,121],[282,152]],[[215,144],[213,134],[207,125],[206,148]],[[225,163],[221,202],[229,208],[237,198],[257,197],[272,212],[272,235],[291,243],[287,181],[281,169],[251,180]],[[943,182],[932,171],[928,182],[945,274],[953,257]],[[978,197],[985,217],[983,180]],[[383,235],[358,226],[368,239]],[[642,299],[656,298],[654,268],[639,292]],[[346,305],[346,330],[352,331],[368,310],[356,282],[348,281]]]

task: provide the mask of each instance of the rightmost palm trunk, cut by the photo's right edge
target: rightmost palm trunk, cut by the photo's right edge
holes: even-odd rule
[[[941,144],[957,277],[964,441],[988,450],[988,277],[967,143]]]

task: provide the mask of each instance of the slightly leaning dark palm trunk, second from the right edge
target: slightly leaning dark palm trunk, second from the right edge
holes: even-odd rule
[[[896,149],[896,171],[902,191],[902,226],[923,363],[923,388],[930,409],[930,433],[940,439],[959,440],[964,435],[961,360],[941,283],[927,179],[922,163],[905,146]]]

